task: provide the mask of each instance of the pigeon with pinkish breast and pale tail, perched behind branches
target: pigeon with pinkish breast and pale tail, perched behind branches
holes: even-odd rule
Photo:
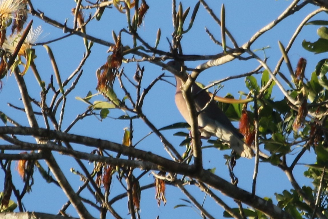
[[[170,61],[167,63],[167,65],[171,66],[176,71],[181,71],[181,66],[176,61]],[[175,79],[175,104],[183,118],[190,124],[191,119],[189,116],[189,111],[180,89],[181,80],[176,75]],[[197,111],[203,109],[205,105],[211,100],[211,97],[208,95],[208,93],[206,91],[202,91],[202,89],[195,83],[191,87],[191,92],[195,98],[195,106]],[[231,121],[222,112],[215,101],[211,101],[207,105],[204,111],[198,115],[197,121],[202,137],[210,138],[210,136],[216,136],[221,141],[228,143],[232,149],[240,154],[241,157],[252,158],[254,156],[253,150],[245,142],[242,141],[243,135],[240,134],[232,125]]]

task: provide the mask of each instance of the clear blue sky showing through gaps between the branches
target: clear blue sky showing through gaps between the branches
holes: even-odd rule
[[[191,11],[195,6],[197,1],[182,1],[184,8],[191,6]],[[256,33],[260,28],[267,25],[271,21],[277,18],[277,16],[285,10],[285,8],[291,4],[292,1],[286,0],[257,0],[252,1],[242,1],[242,0],[225,0],[225,1],[208,1],[208,4],[215,11],[216,15],[220,16],[221,4],[225,5],[226,10],[226,27],[234,35],[238,45],[244,44],[249,38]],[[67,0],[58,0],[58,1],[32,1],[35,9],[43,11],[47,16],[64,23],[65,19],[68,19],[68,26],[72,27],[73,16],[71,9],[75,7],[74,1]],[[147,1],[147,4],[150,6],[149,11],[146,14],[143,24],[138,30],[138,33],[143,37],[150,45],[154,45],[156,39],[156,32],[158,28],[161,28],[161,41],[158,46],[158,49],[169,51],[169,45],[167,40],[168,37],[171,39],[171,33],[173,31],[172,27],[172,18],[171,18],[171,1]],[[291,17],[287,18],[280,24],[278,24],[273,30],[268,33],[263,34],[251,47],[252,50],[260,49],[266,46],[270,46],[271,49],[265,50],[266,55],[269,57],[268,65],[273,70],[278,59],[281,57],[281,53],[278,48],[278,41],[281,41],[285,46],[287,45],[290,37],[294,33],[298,24],[304,19],[304,17],[311,11],[316,9],[315,6],[306,6],[300,12],[296,12]],[[191,12],[190,12],[191,13]],[[87,16],[87,14],[85,14]],[[190,17],[190,15],[189,15]],[[187,20],[189,19],[187,18]],[[325,14],[319,14],[314,19],[325,19]],[[33,19],[33,26],[42,25],[44,30],[43,37],[39,40],[48,41],[56,37],[62,36],[64,33],[60,29],[56,29],[48,24],[43,23],[37,18],[32,17],[31,15],[28,18]],[[119,13],[116,9],[106,10],[101,21],[96,22],[92,21],[90,27],[87,27],[87,33],[104,39],[106,41],[113,42],[112,39],[112,30],[116,33],[122,27],[126,27],[126,16],[125,14]],[[222,48],[217,45],[214,45],[209,39],[208,35],[205,33],[205,27],[207,27],[215,37],[220,40],[220,28],[208,15],[205,9],[200,6],[198,14],[196,16],[195,24],[192,30],[185,34],[182,39],[182,47],[184,54],[217,54],[222,52]],[[316,63],[324,58],[324,55],[313,55],[313,53],[305,51],[301,47],[301,42],[303,39],[308,41],[317,40],[317,26],[305,26],[300,35],[297,37],[297,40],[294,43],[291,51],[289,52],[289,57],[293,68],[296,68],[297,61],[300,57],[307,59],[307,67],[305,70],[305,75],[307,78],[310,77],[313,72]],[[42,36],[41,35],[41,36]],[[123,45],[132,46],[131,37],[128,35],[122,36]],[[228,45],[231,43],[228,42]],[[72,71],[78,66],[83,53],[85,51],[83,40],[80,37],[72,36],[66,39],[63,39],[58,42],[49,44],[53,54],[56,58],[59,72],[61,73],[62,78],[68,77]],[[46,84],[50,81],[50,75],[53,74],[51,63],[49,57],[46,53],[46,50],[42,46],[35,47],[37,58],[35,59],[36,66],[41,74],[43,80],[46,81]],[[84,112],[87,108],[87,105],[81,101],[75,99],[75,97],[84,97],[88,91],[96,93],[95,87],[97,85],[95,71],[101,65],[106,62],[108,54],[106,51],[108,47],[94,44],[92,48],[92,54],[87,60],[86,65],[83,67],[83,76],[81,77],[80,83],[75,89],[75,91],[68,97],[67,101],[67,110],[64,117],[63,127],[67,127],[71,121],[75,118],[77,114]],[[260,57],[263,56],[263,52],[256,52]],[[201,62],[186,62],[188,67],[195,67]],[[148,63],[140,63],[140,65],[145,66],[145,74],[143,80],[143,86],[147,85],[157,76],[159,76],[164,71],[161,70],[159,66]],[[208,84],[213,80],[218,80],[232,75],[239,75],[242,73],[249,72],[255,69],[259,63],[256,60],[249,61],[239,61],[234,60],[230,63],[224,64],[223,66],[218,66],[211,68],[207,71],[204,71],[198,81],[203,84]],[[123,63],[124,71],[128,76],[133,76],[135,72],[135,64],[126,64]],[[281,72],[284,73],[287,77],[289,73],[285,64],[283,63]],[[165,74],[170,76],[170,73],[165,71]],[[28,89],[32,98],[39,98],[40,89],[37,82],[34,79],[34,76],[31,72],[28,72],[25,76],[25,80],[28,84]],[[168,78],[172,83],[174,83],[174,78]],[[118,87],[118,84],[117,88]],[[224,88],[218,93],[219,96],[225,96],[227,93],[233,94],[235,97],[238,97],[238,91],[248,92],[245,87],[243,79],[235,79],[223,84]],[[183,121],[183,118],[180,116],[179,112],[175,108],[174,104],[174,92],[175,88],[163,81],[158,82],[151,92],[147,95],[146,102],[144,105],[144,113],[149,117],[149,120],[152,121],[156,127],[160,128],[175,122]],[[122,93],[118,92],[118,95],[123,97]],[[135,96],[132,93],[132,96]],[[282,98],[282,95],[279,90],[275,89],[272,95],[277,99]],[[0,91],[0,106],[8,116],[11,116],[13,119],[20,121],[23,125],[28,126],[25,114],[23,112],[17,112],[12,108],[6,105],[7,102],[10,102],[14,105],[22,106],[19,101],[20,95],[15,84],[15,79],[13,76],[8,77],[8,79],[3,80],[3,88]],[[97,96],[93,100],[103,100],[102,96]],[[48,100],[50,101],[50,99]],[[109,116],[118,117],[123,115],[123,112],[120,110],[111,110]],[[42,123],[43,118],[39,117],[38,120],[40,124]],[[234,123],[236,125],[236,123]],[[42,125],[41,125],[42,126]],[[71,131],[73,134],[87,135],[90,137],[106,139],[113,142],[122,142],[124,128],[129,126],[128,121],[126,120],[112,120],[105,119],[102,122],[97,120],[95,117],[85,118],[80,121]],[[142,123],[142,121],[136,121],[134,124],[134,142],[140,140],[143,136],[149,133],[149,129]],[[186,130],[183,130],[186,131]],[[165,137],[167,137],[174,145],[178,145],[183,139],[181,137],[172,136],[173,131],[163,132]],[[1,141],[0,141],[1,143]],[[204,142],[204,144],[206,144]],[[79,149],[82,146],[75,146]],[[154,151],[160,155],[168,157],[165,154],[165,151],[162,147],[160,140],[155,136],[151,135],[141,142],[138,146],[139,149]],[[183,153],[184,148],[176,148],[179,152]],[[90,151],[90,148],[83,148],[83,151]],[[227,166],[224,164],[225,160],[223,159],[224,154],[229,154],[230,151],[218,151],[215,149],[206,149],[203,151],[203,160],[204,168],[213,168],[216,167],[216,173],[220,177],[230,181],[229,174],[227,171]],[[79,169],[77,164],[72,158],[67,158],[62,155],[56,154],[56,159],[63,168],[63,171],[66,173],[66,176],[69,178],[72,186],[76,190],[78,186],[82,185],[82,182],[79,181],[79,177],[70,172],[70,168],[74,167]],[[306,157],[306,160],[301,160],[300,163],[310,162],[309,160],[314,159],[313,151],[309,156]],[[42,162],[43,163],[43,162]],[[86,165],[87,162],[84,162]],[[44,164],[44,163],[43,163]],[[92,169],[92,164],[89,166]],[[251,190],[252,186],[252,175],[254,169],[254,159],[239,159],[237,166],[235,168],[235,174],[239,178],[239,184],[243,189],[248,191]],[[297,165],[295,177],[299,180],[300,185],[311,185],[309,180],[306,180],[303,177],[303,171],[306,168],[303,165]],[[135,171],[137,173],[138,171]],[[13,173],[15,177],[15,183],[17,186],[22,185],[20,183],[19,176],[16,173]],[[138,174],[135,174],[138,175]],[[1,176],[1,174],[0,174]],[[146,177],[147,178],[147,177]],[[0,185],[3,185],[2,177],[0,177]],[[113,188],[111,189],[110,197],[114,197],[116,194],[122,192],[118,190],[120,188],[119,183],[116,180],[113,180]],[[141,184],[148,184],[153,181],[153,176],[149,175],[147,179],[141,181]],[[291,188],[290,183],[288,182],[287,177],[282,173],[281,170],[272,167],[270,164],[261,163],[259,168],[258,176],[258,189],[256,194],[258,196],[270,197],[275,201],[274,192],[282,192],[283,189],[289,190]],[[0,190],[2,187],[0,186]],[[187,187],[188,188],[188,187]],[[191,186],[190,186],[191,188]],[[189,188],[188,188],[189,189]],[[200,193],[197,189],[189,189],[195,194],[195,197],[199,202],[202,202],[204,197],[203,193]],[[216,192],[219,197],[224,198],[224,196]],[[91,198],[88,192],[82,193],[85,197]],[[178,216],[184,217],[186,214],[190,215],[190,218],[199,218],[197,216],[197,210],[193,211],[190,208],[176,208],[173,209],[175,205],[178,204],[187,204],[179,198],[185,199],[186,197],[177,189],[172,186],[167,186],[166,198],[167,205],[165,207],[160,206],[157,208],[157,203],[154,198],[155,191],[154,188],[148,189],[142,192],[141,195],[141,216],[142,218],[155,218],[157,215],[160,218],[176,218]],[[234,203],[231,199],[228,199],[227,203],[231,206],[234,206]],[[24,206],[29,211],[40,211],[48,213],[57,213],[61,206],[67,201],[65,194],[60,188],[52,184],[46,184],[43,179],[40,178],[39,173],[34,174],[34,185],[32,186],[32,192],[23,199]],[[124,217],[127,215],[127,200],[123,199],[113,205],[115,210],[117,210]],[[205,201],[205,208],[213,213],[213,216],[220,218],[222,216],[222,209],[215,206],[215,203],[207,197]],[[91,212],[95,212],[94,209],[90,209]],[[69,213],[73,216],[77,216],[73,208],[69,208]],[[98,215],[94,215],[98,216]],[[111,217],[108,217],[111,218]],[[129,218],[127,215],[126,218]]]

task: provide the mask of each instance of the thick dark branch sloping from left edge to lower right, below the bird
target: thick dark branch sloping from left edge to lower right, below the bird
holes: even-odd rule
[[[252,195],[243,189],[240,189],[231,183],[223,180],[222,178],[216,176],[207,170],[195,171],[195,169],[187,164],[176,163],[174,161],[165,159],[158,155],[152,154],[151,152],[146,152],[138,150],[132,147],[126,147],[124,145],[109,142],[100,139],[94,139],[90,137],[84,137],[79,135],[72,135],[62,132],[56,132],[52,130],[42,129],[42,128],[29,128],[29,127],[0,127],[0,135],[4,134],[14,134],[14,135],[30,135],[39,138],[56,139],[65,142],[74,142],[78,144],[84,144],[86,146],[92,146],[100,149],[111,150],[114,152],[119,152],[126,156],[133,156],[139,160],[148,161],[150,163],[148,168],[153,168],[155,170],[165,170],[168,172],[174,172],[178,174],[183,174],[196,180],[203,182],[210,187],[221,191],[224,195],[227,195],[233,199],[239,200],[246,205],[258,209],[268,215],[270,218],[292,218],[289,214],[278,208],[269,201],[266,201],[260,197]],[[105,158],[109,159],[109,158]],[[113,158],[112,158],[113,159]],[[141,161],[131,161],[132,163]],[[153,164],[151,164],[153,163]],[[144,164],[147,164],[146,162]]]

